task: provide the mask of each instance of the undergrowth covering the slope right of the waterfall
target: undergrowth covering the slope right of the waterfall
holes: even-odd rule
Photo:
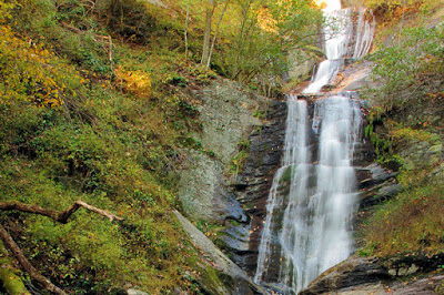
[[[401,3],[395,2],[386,8],[398,9]],[[442,252],[443,33],[442,24],[406,27],[392,45],[371,57],[377,83],[364,93],[373,101],[366,135],[382,164],[391,167],[396,162],[404,190],[373,210],[362,230],[363,255]]]

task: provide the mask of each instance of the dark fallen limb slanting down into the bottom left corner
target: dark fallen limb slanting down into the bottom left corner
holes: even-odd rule
[[[12,237],[8,234],[8,232],[4,230],[2,225],[0,225],[0,237],[3,241],[4,245],[7,245],[9,250],[13,253],[13,255],[19,261],[20,265],[24,268],[24,271],[28,272],[28,274],[31,276],[32,279],[36,279],[37,282],[42,284],[48,291],[54,294],[67,295],[67,293],[64,293],[61,288],[52,284],[51,281],[42,276],[32,266],[32,264],[27,260],[27,257],[24,257],[19,246],[16,244],[16,242],[12,240]]]

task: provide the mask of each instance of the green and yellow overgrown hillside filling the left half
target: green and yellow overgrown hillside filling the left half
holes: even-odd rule
[[[205,262],[171,210],[181,139],[199,129],[182,88],[214,75],[171,52],[176,24],[157,9],[125,1],[133,10],[115,22],[91,3],[0,1],[0,201],[65,210],[80,199],[124,222],[84,210],[68,224],[19,212],[0,221],[69,293],[198,292]]]

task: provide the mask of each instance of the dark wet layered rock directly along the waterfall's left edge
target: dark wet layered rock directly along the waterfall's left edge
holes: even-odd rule
[[[249,136],[250,156],[243,173],[231,183],[236,200],[250,217],[250,223],[241,224],[239,225],[241,228],[236,228],[245,234],[242,241],[249,241],[249,248],[245,250],[244,244],[239,244],[242,245],[239,247],[235,243],[230,243],[230,253],[233,261],[250,275],[254,274],[256,267],[262,222],[266,214],[266,199],[274,172],[281,164],[285,120],[286,103],[273,101],[268,110],[265,123]]]

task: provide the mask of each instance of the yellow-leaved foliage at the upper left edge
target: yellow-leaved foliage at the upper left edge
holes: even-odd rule
[[[0,12],[7,14],[10,8],[0,1]],[[26,100],[59,108],[73,95],[72,82],[81,84],[80,75],[42,44],[16,35],[4,18],[0,23],[0,102]]]

